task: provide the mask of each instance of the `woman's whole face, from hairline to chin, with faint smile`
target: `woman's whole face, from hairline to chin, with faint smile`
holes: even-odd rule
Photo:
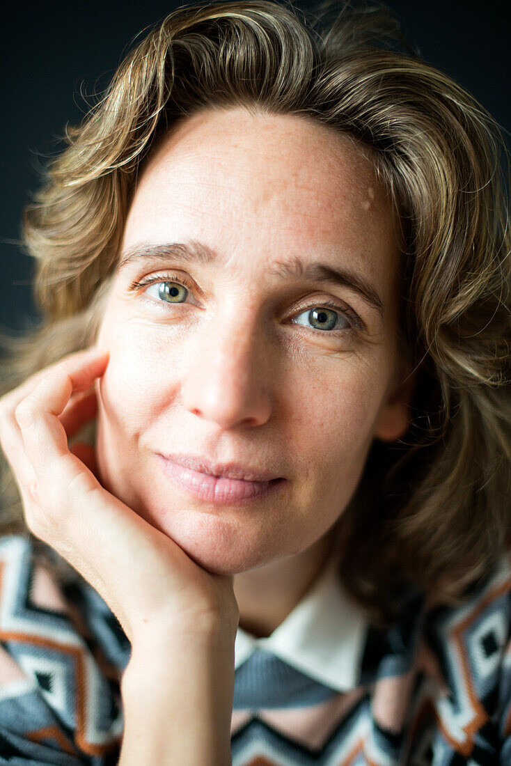
[[[311,119],[211,110],[139,178],[97,338],[100,478],[209,571],[305,551],[372,441],[407,428],[399,254],[366,154]]]

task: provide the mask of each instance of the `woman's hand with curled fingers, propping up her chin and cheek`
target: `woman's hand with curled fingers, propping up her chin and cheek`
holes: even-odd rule
[[[132,644],[211,630],[230,641],[239,617],[232,576],[197,565],[101,486],[93,450],[68,446],[96,414],[93,382],[108,359],[95,347],[71,354],[0,398],[0,442],[28,528],[92,584]]]

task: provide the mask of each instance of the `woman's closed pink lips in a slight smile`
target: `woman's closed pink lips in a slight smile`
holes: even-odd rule
[[[221,502],[228,505],[259,499],[276,492],[286,482],[282,476],[271,476],[268,472],[261,471],[249,472],[234,463],[213,466],[205,460],[188,456],[180,455],[178,458],[173,456],[171,459],[162,454],[156,454],[166,476],[172,483],[179,489],[185,489],[195,497],[208,502]],[[258,478],[254,480],[238,478],[239,476],[257,476]],[[268,478],[261,480],[260,476]]]

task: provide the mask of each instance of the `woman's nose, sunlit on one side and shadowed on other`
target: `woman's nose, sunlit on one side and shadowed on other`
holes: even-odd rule
[[[266,423],[272,375],[260,325],[238,312],[211,322],[194,340],[183,369],[183,406],[222,428]]]

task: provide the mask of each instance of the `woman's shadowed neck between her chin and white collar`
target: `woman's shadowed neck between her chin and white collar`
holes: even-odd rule
[[[333,542],[329,530],[305,551],[234,575],[240,627],[257,638],[270,636],[316,581]]]

